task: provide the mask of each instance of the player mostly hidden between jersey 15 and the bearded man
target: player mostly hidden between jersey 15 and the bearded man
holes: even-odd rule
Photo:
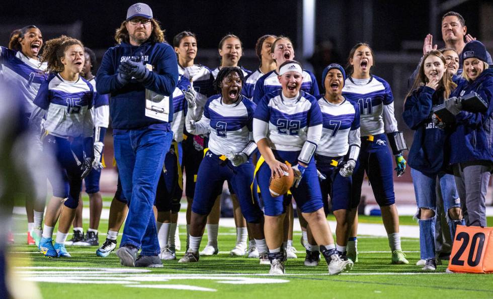
[[[73,220],[73,236],[72,239],[65,242],[65,245],[76,246],[99,246],[98,227],[101,219],[101,211],[103,210],[103,198],[99,191],[99,180],[101,170],[103,169],[103,148],[106,129],[110,122],[109,97],[107,94],[100,94],[96,90],[96,77],[91,72],[96,65],[96,55],[93,50],[84,47],[84,68],[82,72],[84,78],[93,85],[94,89],[94,107],[91,110],[94,122],[94,161],[93,171],[84,179],[86,184],[86,193],[89,195],[89,229],[84,236],[82,228],[82,211],[84,203],[79,201],[75,218]],[[80,194],[80,198],[82,194]]]

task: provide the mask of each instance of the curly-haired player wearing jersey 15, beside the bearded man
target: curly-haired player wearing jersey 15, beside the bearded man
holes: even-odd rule
[[[85,60],[80,41],[67,36],[49,40],[41,60],[48,63],[49,77],[34,99],[37,107],[30,124],[41,137],[41,122],[46,117],[43,129],[47,135],[40,142],[43,151],[55,153],[56,175],[61,180],[48,174],[53,197],[46,209],[39,250],[47,257],[70,257],[65,240],[75,216],[82,179],[91,171],[94,160],[94,124],[89,111],[94,105],[94,89],[80,75]],[[53,246],[53,229],[58,217]]]

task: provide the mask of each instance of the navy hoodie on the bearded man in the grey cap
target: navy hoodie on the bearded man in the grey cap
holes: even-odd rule
[[[144,63],[153,71],[143,81],[131,79],[126,85],[116,77],[118,66],[135,56],[144,56]],[[173,91],[178,82],[178,62],[175,51],[167,43],[145,42],[140,46],[129,43],[111,47],[106,51],[97,74],[96,89],[99,93],[111,93],[110,117],[114,129],[128,130],[151,126],[170,130],[168,123],[145,116],[145,89],[170,97],[170,119],[173,120]]]

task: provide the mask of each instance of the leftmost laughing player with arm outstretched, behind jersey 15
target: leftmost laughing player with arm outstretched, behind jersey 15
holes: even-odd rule
[[[35,107],[34,98],[39,86],[46,80],[46,63],[39,61],[39,54],[43,47],[43,36],[39,28],[29,25],[12,32],[9,49],[0,47],[0,77],[13,88],[13,96],[24,105],[25,120]],[[46,193],[46,190],[44,192]],[[40,198],[26,198],[26,213],[28,219],[27,243],[39,244],[41,239],[45,194]],[[11,242],[14,242],[11,235]]]

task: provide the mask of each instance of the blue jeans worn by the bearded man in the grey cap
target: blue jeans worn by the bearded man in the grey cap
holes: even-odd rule
[[[152,206],[173,133],[145,128],[119,130],[113,137],[118,173],[129,207],[120,247],[132,245],[142,249],[141,255],[158,255]]]

